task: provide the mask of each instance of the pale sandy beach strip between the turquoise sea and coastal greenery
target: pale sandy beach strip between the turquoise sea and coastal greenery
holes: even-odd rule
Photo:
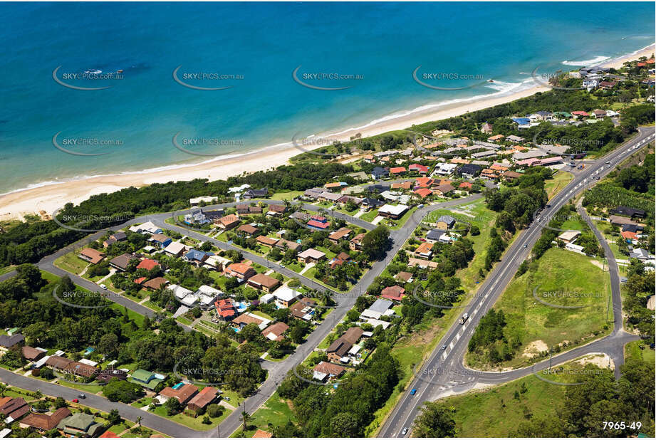
[[[650,56],[654,53],[654,44],[639,49],[625,56],[601,63],[600,66],[622,66],[628,59]],[[445,101],[431,105],[423,105],[409,111],[392,113],[380,117],[360,127],[350,127],[336,133],[315,135],[316,138],[330,137],[331,140],[348,140],[349,137],[360,133],[362,137],[380,135],[383,132],[402,130],[412,125],[422,124],[434,120],[463,115],[467,112],[493,107],[494,105],[509,103],[513,100],[526,98],[538,92],[550,90],[542,85],[532,85],[532,80],[525,80],[516,88],[516,91],[498,91],[487,95],[477,95],[472,98]],[[524,88],[523,88],[524,86]],[[317,147],[319,147],[318,145]],[[155,169],[145,169],[137,172],[124,172],[120,174],[107,174],[102,176],[81,177],[63,182],[43,182],[26,189],[0,195],[0,220],[24,219],[25,214],[39,214],[45,211],[52,214],[64,204],[72,202],[78,204],[95,194],[119,191],[127,187],[143,187],[154,183],[177,182],[193,179],[226,179],[244,173],[266,171],[271,168],[288,163],[288,159],[302,150],[293,146],[291,142],[281,145],[263,147],[259,150],[245,152],[229,157],[216,157],[197,164],[172,164]]]

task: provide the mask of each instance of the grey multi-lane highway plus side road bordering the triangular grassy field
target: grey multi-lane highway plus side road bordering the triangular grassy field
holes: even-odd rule
[[[412,421],[417,417],[423,402],[434,401],[446,394],[465,392],[472,389],[477,383],[499,384],[508,382],[524,377],[526,374],[531,374],[531,372],[538,371],[548,365],[547,360],[539,362],[535,367],[511,372],[477,372],[464,367],[463,358],[467,351],[469,339],[472,337],[481,316],[492,308],[514,277],[519,265],[529,257],[533,245],[541,236],[543,224],[547,224],[548,219],[558,213],[558,210],[576,194],[587,189],[588,184],[596,182],[596,177],[600,179],[605,177],[620,162],[623,162],[630,154],[634,153],[636,151],[634,147],[643,147],[653,140],[654,128],[640,127],[639,134],[632,140],[625,142],[624,145],[613,150],[605,157],[594,161],[593,164],[588,164],[585,169],[575,173],[574,179],[549,201],[551,207],[545,208],[541,212],[540,216],[543,219],[546,218],[546,221],[533,221],[526,230],[519,234],[514,243],[504,253],[502,260],[488,274],[486,281],[481,285],[469,305],[462,308],[463,313],[469,313],[469,320],[464,325],[458,323],[452,325],[452,328],[444,335],[437,348],[429,355],[424,364],[416,368],[415,378],[410,382],[410,386],[407,387],[406,392],[388,415],[378,436],[401,437],[401,431],[405,427],[409,429],[406,436],[410,436],[412,434]],[[606,162],[610,162],[610,164],[607,165]],[[598,231],[596,234],[598,234]],[[602,246],[604,244],[605,241],[602,241]],[[609,258],[609,265],[611,261],[614,263],[613,254],[607,244],[604,249],[605,255]],[[615,264],[613,266],[615,266],[615,273],[613,273],[613,269],[610,272],[611,288],[613,290],[613,319],[615,320],[613,332],[602,340],[553,357],[553,365],[566,362],[588,352],[606,352],[613,357],[616,366],[622,365],[624,344],[637,339],[637,337],[622,330],[619,277],[616,272],[617,266]],[[446,348],[442,350],[442,346],[446,346]],[[410,394],[412,388],[417,389],[415,395]]]

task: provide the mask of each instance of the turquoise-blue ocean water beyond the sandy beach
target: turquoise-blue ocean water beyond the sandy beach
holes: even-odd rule
[[[361,127],[388,115],[532,85],[531,71],[573,68],[655,41],[651,3],[4,3],[0,193],[73,177],[137,172],[239,154],[293,136]],[[568,61],[563,64],[563,61]],[[473,79],[427,80],[412,71]],[[78,87],[73,90],[53,80]],[[186,80],[172,72],[234,75]],[[359,79],[305,80],[292,72]],[[66,73],[123,70],[123,79]],[[474,78],[475,77],[475,78]],[[482,78],[482,79],[481,79]],[[494,78],[495,83],[486,83]],[[102,156],[66,154],[108,153]],[[63,145],[73,139],[113,145]],[[183,145],[184,147],[184,145]]]

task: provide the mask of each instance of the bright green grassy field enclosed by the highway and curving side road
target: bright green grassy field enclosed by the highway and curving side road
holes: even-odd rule
[[[504,310],[508,340],[519,338],[521,346],[514,359],[504,367],[529,365],[533,354],[561,343],[578,343],[609,332],[607,323],[610,277],[591,261],[593,258],[560,248],[549,249],[539,260],[537,271],[529,270],[515,278],[494,308]],[[580,306],[558,308],[545,305],[533,297],[553,305]],[[526,354],[526,355],[524,355]],[[481,360],[468,355],[477,367]]]

